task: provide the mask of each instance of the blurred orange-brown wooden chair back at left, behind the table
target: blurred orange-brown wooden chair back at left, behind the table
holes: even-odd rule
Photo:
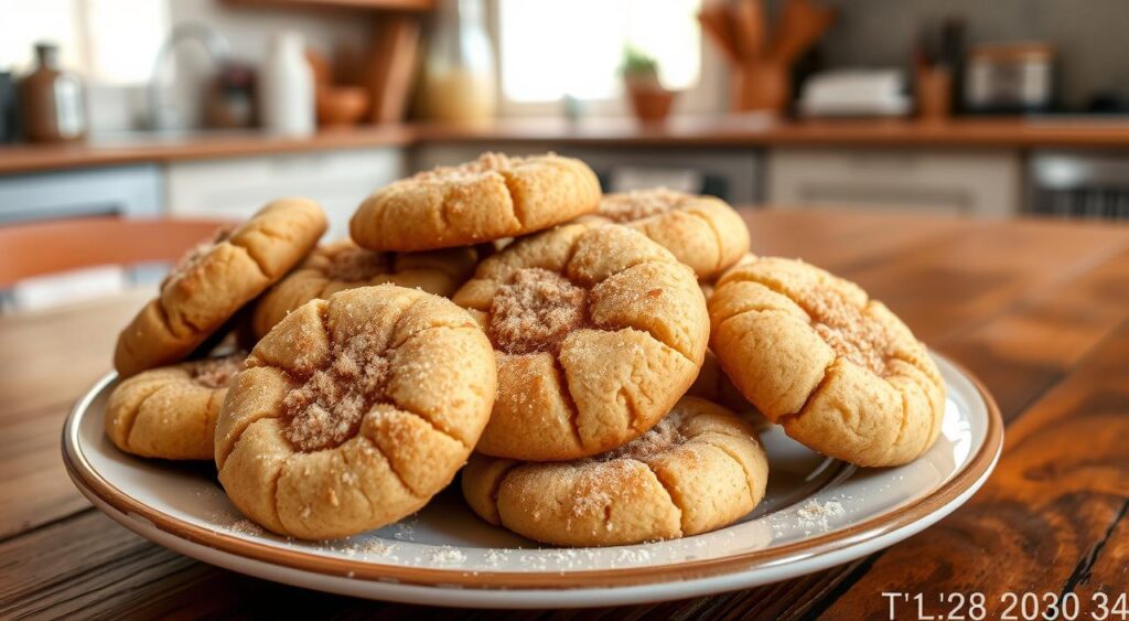
[[[72,218],[0,226],[0,290],[16,282],[97,265],[175,262],[229,221]]]

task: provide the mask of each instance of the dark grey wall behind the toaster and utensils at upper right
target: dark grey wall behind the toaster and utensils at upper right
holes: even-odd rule
[[[908,67],[922,23],[968,19],[970,44],[1045,41],[1058,49],[1062,103],[1080,108],[1099,91],[1129,103],[1126,0],[824,0],[840,9],[822,42],[835,67]]]

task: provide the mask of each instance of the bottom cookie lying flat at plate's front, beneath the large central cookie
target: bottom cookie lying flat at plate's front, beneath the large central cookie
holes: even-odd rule
[[[474,455],[463,496],[483,519],[557,545],[623,545],[704,533],[764,497],[752,427],[688,396],[650,431],[595,457],[523,463]]]

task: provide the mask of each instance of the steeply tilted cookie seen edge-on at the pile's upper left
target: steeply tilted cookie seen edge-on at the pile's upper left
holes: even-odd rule
[[[134,375],[191,353],[298,264],[325,227],[317,203],[282,199],[194,248],[165,278],[157,298],[119,335],[114,351],[119,375]]]

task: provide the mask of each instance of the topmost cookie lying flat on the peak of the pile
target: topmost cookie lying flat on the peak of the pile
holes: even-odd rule
[[[592,168],[554,154],[483,154],[397,181],[365,199],[349,229],[375,251],[449,248],[524,235],[590,213]]]

